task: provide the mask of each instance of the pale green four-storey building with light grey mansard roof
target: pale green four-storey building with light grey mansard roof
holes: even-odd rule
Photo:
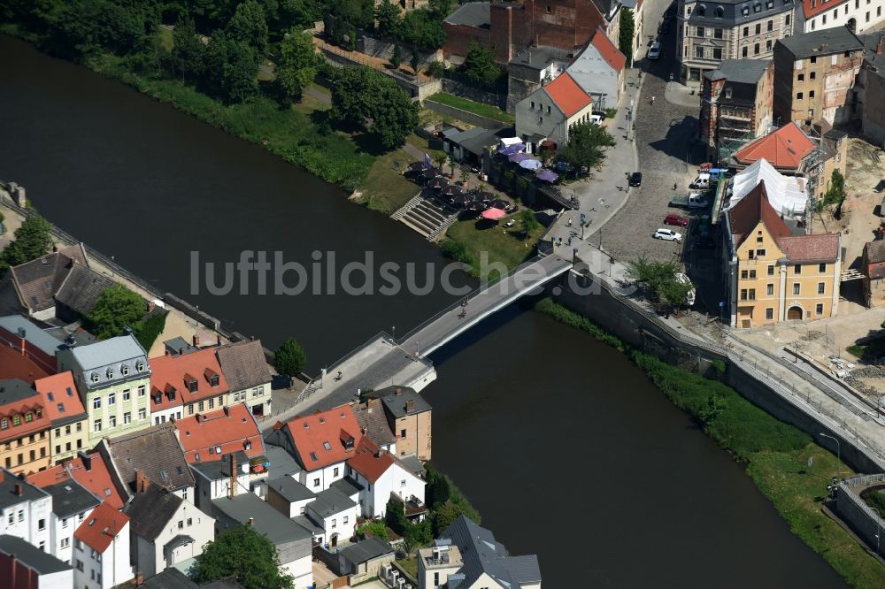
[[[58,351],[58,371],[72,371],[94,447],[104,436],[150,426],[150,365],[132,333]]]

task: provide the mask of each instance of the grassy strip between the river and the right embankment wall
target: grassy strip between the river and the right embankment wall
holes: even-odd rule
[[[790,530],[850,585],[885,585],[885,567],[820,509],[829,479],[840,468],[850,473],[847,465],[840,465],[807,434],[759,409],[730,386],[631,348],[587,317],[549,298],[535,304],[535,310],[627,354],[674,405],[694,417],[707,435],[743,463],[758,490],[787,520]]]

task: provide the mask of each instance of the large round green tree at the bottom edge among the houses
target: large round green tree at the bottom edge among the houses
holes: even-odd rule
[[[294,579],[280,572],[280,557],[270,539],[249,525],[228,528],[196,557],[194,580],[210,583],[233,577],[245,589],[292,589]]]

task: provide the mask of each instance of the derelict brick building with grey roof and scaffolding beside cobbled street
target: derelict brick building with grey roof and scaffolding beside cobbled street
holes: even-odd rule
[[[770,59],[725,59],[704,73],[698,132],[708,159],[723,144],[766,134],[772,124],[774,68]]]

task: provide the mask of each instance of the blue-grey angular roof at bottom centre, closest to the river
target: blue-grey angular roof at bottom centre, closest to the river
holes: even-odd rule
[[[464,566],[459,572],[465,575],[465,586],[472,585],[482,573],[504,586],[541,582],[537,556],[508,555],[507,549],[496,541],[492,532],[474,524],[466,516],[458,516],[442,537],[451,539],[461,552]]]

